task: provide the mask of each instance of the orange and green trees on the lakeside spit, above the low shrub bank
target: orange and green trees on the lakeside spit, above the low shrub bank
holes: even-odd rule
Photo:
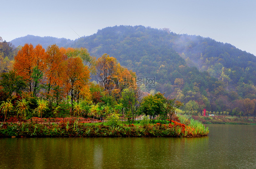
[[[96,59],[86,48],[53,44],[44,49],[40,44],[34,47],[26,43],[12,62],[12,68],[0,75],[4,122],[10,116],[21,120],[33,116],[123,116],[132,122],[140,114],[152,122],[157,116],[158,120],[171,121],[175,109],[182,106],[161,93],[146,96],[133,82],[135,72],[107,54]],[[92,75],[99,84],[89,81]]]

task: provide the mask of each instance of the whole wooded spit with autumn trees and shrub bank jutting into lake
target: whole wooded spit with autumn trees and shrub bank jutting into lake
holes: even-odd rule
[[[13,69],[1,73],[0,137],[208,134],[199,121],[176,116],[183,103],[154,85],[155,77],[137,77],[107,54],[96,59],[86,48],[25,44]]]

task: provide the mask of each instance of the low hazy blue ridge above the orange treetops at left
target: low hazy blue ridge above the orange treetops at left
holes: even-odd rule
[[[51,36],[40,37],[34,35],[26,35],[24,37],[13,39],[11,43],[16,47],[23,46],[25,43],[31,43],[34,46],[41,44],[43,48],[47,48],[47,46],[51,44],[56,44],[59,47],[65,47],[69,43],[73,43],[73,40],[65,38],[54,38]]]

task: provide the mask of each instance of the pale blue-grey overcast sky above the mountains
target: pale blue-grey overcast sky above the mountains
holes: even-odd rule
[[[256,0],[1,0],[0,36],[78,39],[115,25],[169,28],[256,55]]]

